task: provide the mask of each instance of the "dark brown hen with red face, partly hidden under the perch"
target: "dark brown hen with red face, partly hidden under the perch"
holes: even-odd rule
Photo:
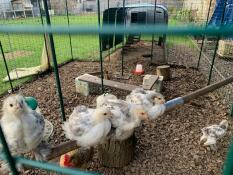
[[[66,168],[82,168],[86,169],[88,162],[92,159],[94,149],[80,148],[78,150],[70,151],[60,158],[60,166]]]

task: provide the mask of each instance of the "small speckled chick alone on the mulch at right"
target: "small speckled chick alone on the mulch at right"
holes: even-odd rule
[[[200,139],[201,144],[204,143],[204,146],[210,146],[212,150],[216,150],[216,142],[226,134],[227,128],[227,120],[221,121],[219,125],[212,125],[203,128],[201,130],[203,134]]]

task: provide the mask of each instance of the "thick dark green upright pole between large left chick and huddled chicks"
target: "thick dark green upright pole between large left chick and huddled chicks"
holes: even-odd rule
[[[43,2],[44,2],[47,25],[51,25],[47,0],[43,0]],[[60,83],[60,77],[59,77],[59,71],[58,71],[58,65],[57,65],[57,58],[56,58],[53,35],[51,33],[49,33],[48,35],[49,35],[51,54],[52,54],[53,65],[54,65],[54,73],[55,73],[55,79],[56,79],[56,85],[57,85],[57,92],[58,92],[58,96],[59,96],[59,100],[60,100],[60,107],[61,107],[61,113],[62,113],[61,118],[62,118],[63,121],[66,121],[65,109],[64,109],[64,103],[63,103],[63,96],[62,96],[62,90],[61,90],[61,83]]]

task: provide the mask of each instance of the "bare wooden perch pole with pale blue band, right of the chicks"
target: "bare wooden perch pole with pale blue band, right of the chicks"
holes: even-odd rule
[[[209,85],[209,86],[206,86],[202,89],[199,89],[195,92],[192,92],[188,95],[185,95],[183,97],[178,97],[178,98],[175,98],[175,99],[172,99],[172,100],[169,100],[166,102],[165,106],[166,106],[166,111],[169,111],[177,106],[180,106],[180,105],[183,105],[184,103],[187,103],[189,102],[190,100],[193,100],[195,98],[198,98],[198,97],[201,97],[209,92],[212,92],[216,89],[219,89],[225,85],[228,85],[230,83],[233,82],[233,76],[232,77],[229,77],[225,80],[222,80],[220,82],[217,82],[217,83],[214,83],[212,85]]]

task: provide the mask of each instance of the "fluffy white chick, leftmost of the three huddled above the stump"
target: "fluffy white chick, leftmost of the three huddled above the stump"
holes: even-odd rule
[[[77,106],[62,127],[68,139],[89,148],[105,140],[111,130],[111,117],[112,113],[107,108]]]

